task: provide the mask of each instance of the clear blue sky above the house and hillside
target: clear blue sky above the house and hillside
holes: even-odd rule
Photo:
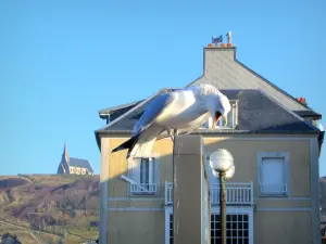
[[[99,174],[98,110],[191,82],[228,30],[239,61],[326,116],[326,1],[158,2],[0,1],[0,175],[54,174],[65,142]]]

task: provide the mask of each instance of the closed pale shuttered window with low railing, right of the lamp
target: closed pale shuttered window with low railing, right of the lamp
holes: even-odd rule
[[[259,156],[259,187],[261,195],[288,193],[288,154],[264,153]]]

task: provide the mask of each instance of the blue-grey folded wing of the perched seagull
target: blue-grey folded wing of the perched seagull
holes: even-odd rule
[[[173,93],[158,95],[145,108],[143,114],[134,127],[133,134],[136,136],[152,125],[153,120],[174,101]]]

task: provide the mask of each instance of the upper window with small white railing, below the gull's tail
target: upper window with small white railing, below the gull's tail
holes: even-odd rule
[[[129,178],[134,181],[130,183],[131,194],[155,194],[158,191],[155,158],[134,158],[129,166]]]

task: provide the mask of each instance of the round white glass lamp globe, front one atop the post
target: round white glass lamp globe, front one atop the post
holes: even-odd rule
[[[218,149],[210,156],[210,166],[217,172],[226,172],[233,165],[234,157],[225,149]]]

